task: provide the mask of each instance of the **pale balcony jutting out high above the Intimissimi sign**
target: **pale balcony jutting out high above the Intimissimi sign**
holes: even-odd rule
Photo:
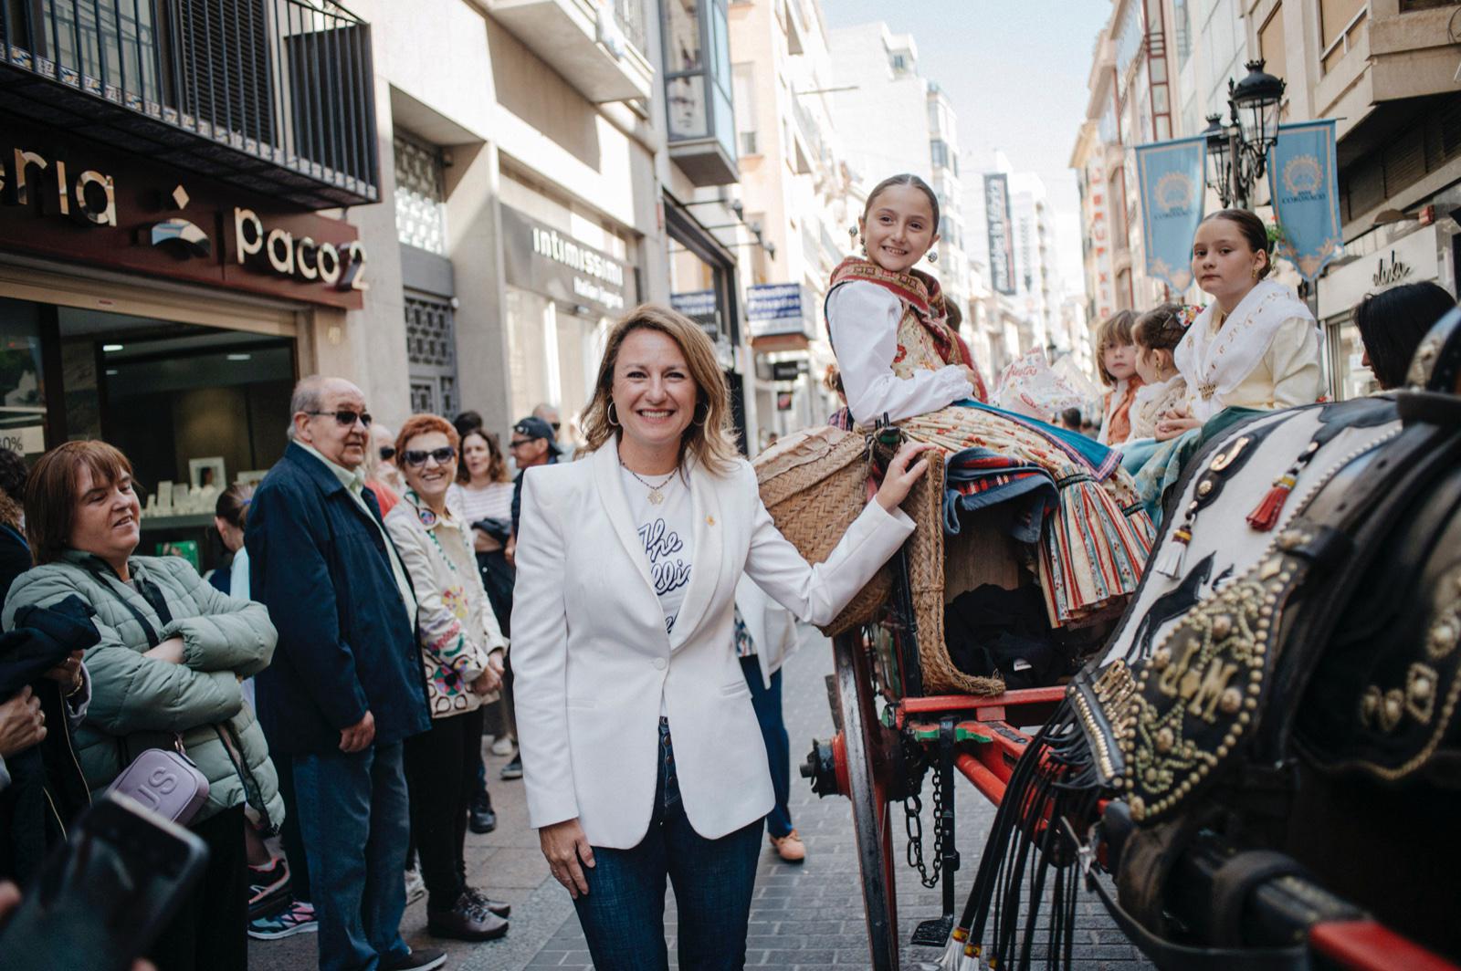
[[[644,0],[487,0],[487,12],[592,102],[649,98]]]

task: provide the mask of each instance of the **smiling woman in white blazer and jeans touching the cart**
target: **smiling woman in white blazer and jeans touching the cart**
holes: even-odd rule
[[[741,574],[823,623],[913,530],[897,507],[928,464],[916,445],[809,567],[728,419],[704,331],[638,307],[609,331],[584,409],[592,454],[523,477],[513,673],[527,813],[599,971],[668,967],[666,876],[681,967],[745,962],[773,794],[733,650]]]

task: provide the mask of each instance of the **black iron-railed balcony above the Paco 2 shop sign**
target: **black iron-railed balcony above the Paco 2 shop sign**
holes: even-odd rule
[[[370,25],[332,0],[0,0],[0,104],[307,209],[378,199]]]

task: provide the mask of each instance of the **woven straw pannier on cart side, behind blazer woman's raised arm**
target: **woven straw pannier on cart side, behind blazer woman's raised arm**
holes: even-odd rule
[[[906,553],[923,691],[998,695],[1004,682],[958,670],[944,645],[944,456],[932,448],[925,457],[929,470],[903,501],[903,511],[916,526]],[[831,555],[872,495],[868,442],[859,432],[809,428],[763,451],[754,466],[761,501],[776,529],[809,564]],[[893,572],[884,567],[821,632],[836,637],[880,621],[891,593]]]

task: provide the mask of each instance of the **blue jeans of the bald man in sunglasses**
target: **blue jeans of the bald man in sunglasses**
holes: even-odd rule
[[[411,837],[400,749],[294,756],[320,971],[375,971],[383,958],[411,953],[400,939]]]

